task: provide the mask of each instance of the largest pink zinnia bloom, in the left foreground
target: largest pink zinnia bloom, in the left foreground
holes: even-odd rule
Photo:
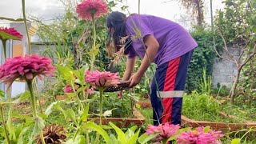
[[[7,58],[0,66],[0,79],[10,86],[17,78],[28,81],[36,76],[40,79],[42,76],[50,77],[54,75],[54,70],[50,58],[40,57],[37,54],[19,56]]]

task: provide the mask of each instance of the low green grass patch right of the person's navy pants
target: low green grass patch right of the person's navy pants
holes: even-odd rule
[[[234,115],[237,118],[226,118],[218,112]],[[242,110],[238,106],[231,106],[229,103],[220,103],[215,98],[196,92],[184,95],[182,114],[188,118],[198,121],[209,122],[245,122],[253,121],[250,110]]]

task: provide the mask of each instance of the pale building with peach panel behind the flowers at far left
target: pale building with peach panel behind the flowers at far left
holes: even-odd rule
[[[30,39],[36,34],[37,26],[34,26],[31,23],[28,23],[28,29],[29,29],[29,37]],[[25,54],[28,54],[29,47],[27,42],[27,34],[26,34],[26,27],[24,22],[11,22],[10,27],[14,27],[20,34],[23,35],[22,41],[12,41],[9,40],[7,42],[7,57],[13,58],[16,56],[24,56]],[[2,42],[0,42],[0,64],[4,62],[4,56],[2,53]],[[6,90],[6,85],[4,85],[2,82],[0,82],[0,89]],[[26,83],[25,82],[18,82],[15,81],[13,85],[11,86],[11,95],[12,97],[15,97],[18,94],[22,94],[24,91],[26,91]]]

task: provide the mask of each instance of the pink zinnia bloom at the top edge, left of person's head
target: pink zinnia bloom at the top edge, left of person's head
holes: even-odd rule
[[[106,2],[102,0],[86,0],[77,6],[78,17],[91,21],[108,12]]]

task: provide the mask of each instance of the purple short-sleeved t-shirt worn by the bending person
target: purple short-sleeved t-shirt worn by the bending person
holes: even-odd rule
[[[136,36],[136,30],[141,32],[141,38],[152,34],[158,40],[159,50],[154,58],[154,62],[158,66],[178,58],[198,46],[194,38],[182,26],[165,18],[146,14],[132,14],[126,21],[126,34]],[[128,58],[134,58],[135,56],[143,58],[146,54],[142,40],[139,38],[133,39],[132,47]]]

